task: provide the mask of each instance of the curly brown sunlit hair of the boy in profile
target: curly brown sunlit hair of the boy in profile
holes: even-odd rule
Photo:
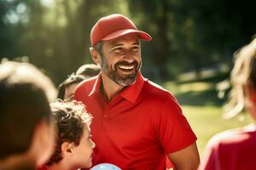
[[[61,144],[73,143],[78,146],[84,133],[84,122],[90,126],[92,116],[86,111],[84,105],[78,101],[58,99],[50,105],[55,117],[56,143],[55,152],[46,163],[47,166],[61,161]]]

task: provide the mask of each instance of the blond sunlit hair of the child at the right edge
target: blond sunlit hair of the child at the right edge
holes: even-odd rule
[[[234,58],[236,63],[231,71],[231,86],[229,100],[224,105],[225,117],[236,116],[243,111],[247,86],[256,88],[256,38],[247,46],[239,49]]]

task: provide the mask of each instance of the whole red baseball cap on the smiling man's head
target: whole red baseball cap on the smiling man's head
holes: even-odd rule
[[[97,42],[112,40],[129,33],[137,33],[139,39],[150,41],[151,36],[138,31],[134,23],[122,14],[110,14],[102,17],[96,22],[90,31],[90,45],[94,46]]]

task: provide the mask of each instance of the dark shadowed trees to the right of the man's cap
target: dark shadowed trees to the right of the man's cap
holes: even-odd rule
[[[154,42],[148,45],[148,64],[170,78],[181,71],[197,71],[224,63],[255,33],[255,1],[130,0],[139,23]],[[134,8],[137,7],[137,8]]]

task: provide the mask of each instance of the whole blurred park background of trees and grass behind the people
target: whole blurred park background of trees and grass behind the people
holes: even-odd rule
[[[153,37],[142,44],[144,76],[177,96],[202,153],[214,133],[249,122],[221,118],[225,98],[215,85],[229,76],[236,49],[252,40],[255,8],[250,0],[0,0],[0,59],[31,62],[58,85],[92,63],[96,20],[125,14]]]

